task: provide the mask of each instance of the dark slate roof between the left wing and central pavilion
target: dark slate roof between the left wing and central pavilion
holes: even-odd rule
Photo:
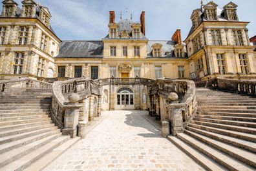
[[[63,41],[57,57],[103,58],[103,42],[99,41]]]

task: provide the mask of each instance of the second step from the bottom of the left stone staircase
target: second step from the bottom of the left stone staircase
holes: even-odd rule
[[[27,155],[23,156],[22,158],[19,158],[16,161],[9,163],[5,167],[0,168],[0,170],[24,170],[29,165],[31,165],[31,163],[34,163],[34,161],[41,158],[48,152],[52,151],[59,145],[65,143],[69,139],[70,139],[70,136],[59,136],[58,138],[55,138],[54,140],[46,143],[45,145],[37,148],[36,150],[28,153]]]

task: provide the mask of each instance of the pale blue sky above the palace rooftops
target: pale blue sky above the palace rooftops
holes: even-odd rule
[[[21,4],[21,0],[15,0]],[[116,12],[116,21],[130,18],[140,21],[145,11],[145,34],[151,40],[170,40],[176,29],[182,30],[184,40],[191,28],[190,16],[199,8],[200,0],[36,0],[52,13],[52,28],[61,40],[101,40],[108,33],[109,11]],[[204,4],[209,0],[204,0]],[[215,0],[219,7],[229,3]],[[249,35],[256,35],[255,0],[233,0],[239,19],[250,21]],[[20,5],[21,6],[21,5]],[[128,14],[125,9],[128,9]]]

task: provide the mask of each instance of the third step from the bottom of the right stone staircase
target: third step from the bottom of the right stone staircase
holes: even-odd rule
[[[222,143],[220,141],[213,140],[212,138],[202,136],[195,132],[186,130],[185,133],[203,143],[206,143],[207,145],[209,145],[221,152],[224,152],[224,154],[228,154],[232,158],[238,159],[239,161],[241,161],[242,163],[245,163],[246,165],[250,165],[251,167],[256,168],[256,154],[253,154],[252,152],[248,152],[246,150],[242,150],[237,147],[233,147],[232,145],[228,145],[226,143]]]

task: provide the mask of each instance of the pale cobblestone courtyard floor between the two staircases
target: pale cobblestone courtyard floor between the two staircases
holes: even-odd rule
[[[107,111],[103,121],[45,170],[203,170],[142,111]],[[154,126],[155,125],[155,126]]]

